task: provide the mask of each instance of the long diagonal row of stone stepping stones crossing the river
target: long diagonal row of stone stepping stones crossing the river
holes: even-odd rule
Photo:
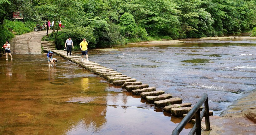
[[[141,81],[127,77],[121,72],[106,68],[92,61],[82,61],[81,56],[74,54],[68,56],[66,55],[66,51],[62,50],[52,50],[52,52],[94,72],[110,83],[113,83],[115,86],[121,86],[123,89],[126,89],[126,91],[131,91],[133,95],[140,95],[141,98],[145,99],[147,102],[154,103],[158,108],[163,108],[164,112],[171,113],[172,116],[185,117],[185,114],[193,108],[191,103],[182,103],[181,98],[173,98],[171,94],[165,94],[165,91],[156,91],[155,87],[149,87],[148,84],[142,84]],[[209,114],[213,115],[211,111]]]

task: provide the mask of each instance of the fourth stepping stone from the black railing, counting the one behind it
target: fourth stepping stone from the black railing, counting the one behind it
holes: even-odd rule
[[[174,105],[174,104],[181,104],[181,103],[182,103],[182,99],[179,97],[169,98],[169,99],[159,100],[154,102],[155,106],[159,108],[165,107],[167,105]]]

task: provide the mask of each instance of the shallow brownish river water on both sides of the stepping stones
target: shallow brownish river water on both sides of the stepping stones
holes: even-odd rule
[[[193,105],[207,92],[214,115],[255,89],[255,40],[184,41],[89,50],[89,60]],[[12,56],[0,58],[0,134],[171,134],[181,120],[60,56],[57,67],[45,54]]]

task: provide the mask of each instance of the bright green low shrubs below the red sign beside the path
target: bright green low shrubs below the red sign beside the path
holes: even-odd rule
[[[33,29],[26,27],[26,25],[21,21],[9,21],[5,20],[7,28],[12,28],[12,32],[14,32],[15,35],[22,35],[24,33],[28,33],[32,31]],[[34,28],[34,26],[32,26]]]

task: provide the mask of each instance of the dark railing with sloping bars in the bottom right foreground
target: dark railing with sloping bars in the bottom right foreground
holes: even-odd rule
[[[200,114],[200,107],[204,104],[204,109]],[[172,135],[178,135],[185,127],[185,125],[192,119],[195,115],[195,125],[190,130],[189,135],[201,135],[201,121],[205,114],[205,131],[210,130],[210,118],[209,118],[209,105],[208,105],[208,97],[207,93],[204,93],[202,98],[196,103],[196,105],[189,111],[189,113],[181,120],[179,125],[172,131]]]

